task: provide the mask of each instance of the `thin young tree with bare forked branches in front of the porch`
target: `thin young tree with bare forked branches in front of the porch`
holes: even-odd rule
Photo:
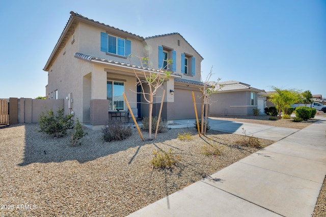
[[[169,72],[167,69],[169,68],[169,65],[172,64],[172,59],[168,60],[168,63],[164,68],[161,67],[159,70],[155,70],[150,64],[147,56],[138,56],[138,58],[141,62],[141,70],[136,70],[136,68],[132,64],[131,65],[132,70],[137,77],[137,84],[140,84],[142,88],[141,94],[143,94],[145,101],[149,104],[149,139],[151,140],[154,96],[156,95],[158,88],[171,76],[172,72]],[[131,63],[130,56],[129,61]],[[148,86],[148,92],[145,91],[145,85]]]

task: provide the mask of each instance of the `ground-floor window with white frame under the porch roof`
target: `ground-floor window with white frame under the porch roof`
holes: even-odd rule
[[[108,100],[108,110],[124,110],[124,82],[107,81],[106,99]]]

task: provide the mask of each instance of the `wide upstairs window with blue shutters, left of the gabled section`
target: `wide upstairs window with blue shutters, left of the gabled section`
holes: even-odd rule
[[[126,56],[131,53],[131,42],[126,39],[101,33],[101,51]]]

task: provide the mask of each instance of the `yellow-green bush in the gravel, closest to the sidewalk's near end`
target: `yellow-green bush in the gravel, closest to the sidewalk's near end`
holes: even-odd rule
[[[181,157],[175,156],[171,148],[169,151],[159,149],[158,151],[153,151],[153,154],[154,157],[151,164],[154,169],[173,168],[178,162],[181,161]]]

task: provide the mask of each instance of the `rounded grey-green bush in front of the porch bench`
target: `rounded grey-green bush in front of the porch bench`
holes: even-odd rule
[[[104,142],[124,140],[132,134],[131,128],[127,126],[125,122],[121,122],[120,120],[109,122],[107,126],[102,128],[102,133],[102,139]]]

